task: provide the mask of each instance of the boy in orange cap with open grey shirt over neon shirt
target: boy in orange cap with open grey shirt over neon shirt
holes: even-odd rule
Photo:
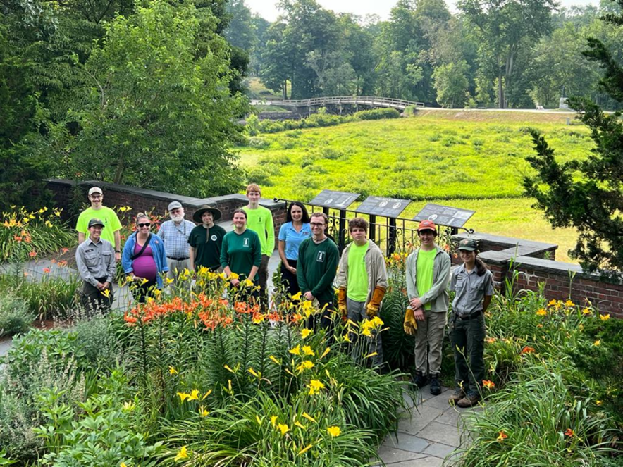
[[[424,387],[430,375],[431,394],[436,396],[441,394],[439,373],[448,313],[450,256],[435,243],[437,228],[432,220],[422,220],[417,235],[420,247],[407,258],[409,307],[405,332],[415,335],[414,383]]]

